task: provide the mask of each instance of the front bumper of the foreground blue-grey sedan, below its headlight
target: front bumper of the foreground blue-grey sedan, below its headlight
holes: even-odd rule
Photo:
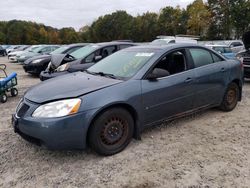
[[[18,117],[19,112],[12,117],[14,131],[22,138],[48,149],[86,148],[88,125],[95,110],[60,118],[34,118],[32,113],[38,105],[27,100],[24,103],[26,112],[19,108],[22,117]]]

